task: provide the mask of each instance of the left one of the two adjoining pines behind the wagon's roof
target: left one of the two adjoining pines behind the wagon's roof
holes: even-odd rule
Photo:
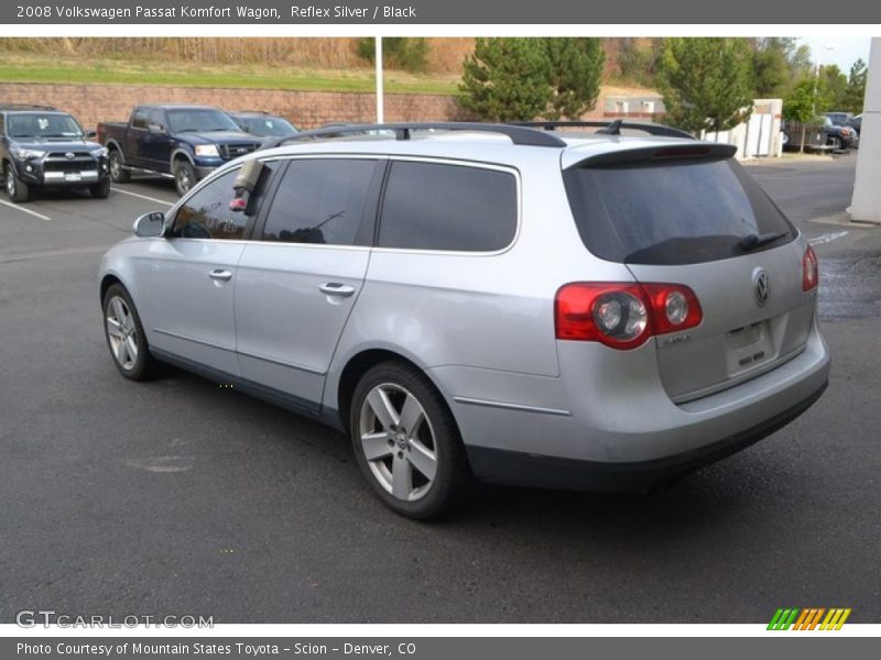
[[[543,40],[478,38],[465,58],[461,105],[490,121],[527,121],[552,99],[550,61]]]

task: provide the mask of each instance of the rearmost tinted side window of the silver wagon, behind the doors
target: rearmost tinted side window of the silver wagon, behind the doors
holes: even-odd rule
[[[508,172],[399,161],[392,164],[379,246],[492,252],[516,232],[516,179]]]

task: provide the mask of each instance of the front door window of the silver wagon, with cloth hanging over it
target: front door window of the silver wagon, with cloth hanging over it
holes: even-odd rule
[[[236,168],[197,190],[177,209],[172,238],[227,241],[243,239],[248,221],[257,216],[270,176],[278,166],[273,162],[263,165],[257,187],[250,195],[247,212],[230,209],[230,202],[236,197],[232,184],[239,175],[239,168]]]

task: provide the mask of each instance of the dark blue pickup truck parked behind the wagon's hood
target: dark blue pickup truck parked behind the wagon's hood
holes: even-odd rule
[[[115,182],[128,182],[132,172],[173,176],[178,195],[260,146],[229,114],[206,106],[138,106],[128,123],[99,123],[98,140]]]

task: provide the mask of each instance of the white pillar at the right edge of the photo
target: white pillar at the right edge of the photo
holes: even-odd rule
[[[881,37],[872,37],[850,217],[881,222]]]

